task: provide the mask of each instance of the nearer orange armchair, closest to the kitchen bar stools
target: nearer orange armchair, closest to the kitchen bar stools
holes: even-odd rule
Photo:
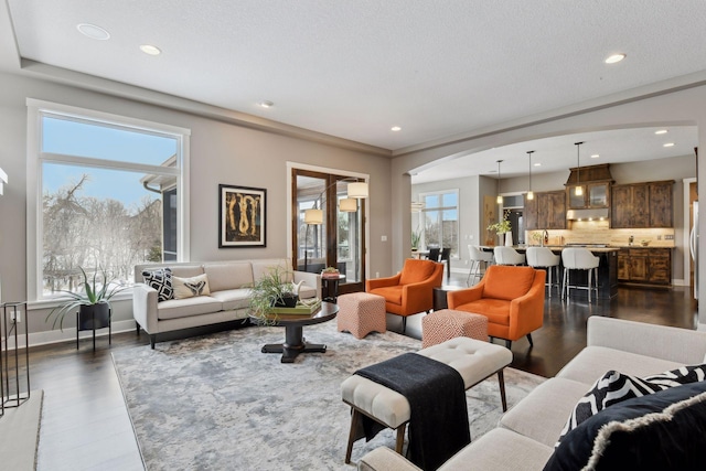
[[[504,339],[507,347],[513,340],[526,335],[544,323],[545,270],[532,267],[493,265],[475,286],[449,291],[449,309],[483,314],[488,318],[488,335]]]

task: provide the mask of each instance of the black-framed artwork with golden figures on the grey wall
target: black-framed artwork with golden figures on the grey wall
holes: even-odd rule
[[[218,203],[218,248],[267,246],[267,190],[220,184]]]

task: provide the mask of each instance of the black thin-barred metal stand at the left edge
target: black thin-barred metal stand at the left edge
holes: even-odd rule
[[[30,398],[30,350],[28,319],[24,319],[24,355],[20,355],[19,340],[21,334],[18,320],[22,311],[26,315],[26,302],[3,302],[2,309],[2,345],[0,347],[0,408],[4,415],[6,407],[19,407]],[[21,321],[20,321],[21,322]],[[22,361],[22,357],[24,357]],[[4,370],[4,371],[3,371]],[[24,370],[24,371],[23,371]],[[10,375],[10,373],[14,373]],[[21,390],[22,378],[26,374],[26,389]],[[20,381],[22,378],[22,381]],[[4,379],[4,381],[3,381]]]

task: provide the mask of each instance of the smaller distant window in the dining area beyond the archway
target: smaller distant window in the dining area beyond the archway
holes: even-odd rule
[[[450,247],[451,257],[459,257],[459,192],[420,194],[422,240],[426,247]],[[416,231],[416,229],[415,229]]]

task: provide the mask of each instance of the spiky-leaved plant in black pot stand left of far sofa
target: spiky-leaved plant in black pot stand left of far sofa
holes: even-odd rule
[[[58,323],[60,328],[64,330],[64,318],[76,312],[78,309],[78,330],[95,330],[107,328],[110,324],[110,299],[129,288],[115,282],[115,278],[108,277],[106,270],[97,268],[90,280],[86,270],[78,267],[83,276],[83,289],[78,292],[61,290],[66,293],[68,298],[62,299],[61,303],[50,311],[46,315],[45,322],[53,317],[54,323],[52,329],[56,329]],[[100,274],[100,282],[98,282],[98,275]]]

